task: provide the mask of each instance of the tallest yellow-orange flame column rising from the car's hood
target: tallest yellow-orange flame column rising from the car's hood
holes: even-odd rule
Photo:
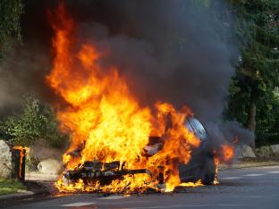
[[[57,15],[62,27],[53,22],[55,60],[47,80],[69,104],[58,113],[63,130],[72,132],[69,151],[84,146],[80,159],[64,155],[63,163],[73,168],[86,160],[128,159],[136,166],[151,131],[149,109],[139,107],[116,67],[101,69],[95,46],[81,44],[73,52],[73,23],[65,18],[63,5]]]

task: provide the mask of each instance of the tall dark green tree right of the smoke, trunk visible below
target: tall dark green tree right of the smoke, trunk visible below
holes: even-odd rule
[[[241,40],[241,55],[228,112],[231,118],[238,118],[249,130],[257,132],[256,121],[261,118],[257,113],[264,113],[273,104],[270,99],[275,99],[272,95],[279,86],[279,2],[235,0],[232,4],[237,8],[235,29]]]

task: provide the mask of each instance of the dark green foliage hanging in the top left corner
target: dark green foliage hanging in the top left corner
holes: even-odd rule
[[[0,1],[0,50],[3,50],[12,36],[21,40],[20,20],[22,13],[21,0]]]

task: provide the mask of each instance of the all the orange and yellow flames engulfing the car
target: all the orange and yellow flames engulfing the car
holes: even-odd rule
[[[156,114],[152,115],[148,107],[139,106],[117,66],[102,67],[100,60],[106,54],[92,44],[80,44],[75,38],[75,24],[67,17],[63,4],[51,14],[51,24],[55,30],[54,63],[47,82],[67,104],[57,113],[61,129],[70,132],[72,138],[69,150],[63,155],[66,169],[72,170],[79,163],[92,160],[126,162],[129,169],[148,168],[150,171],[162,165],[166,190],[180,185],[178,164],[188,163],[191,150],[200,142],[184,126],[190,110],[177,111],[172,104],[157,103]],[[166,130],[167,114],[172,116],[172,125]],[[146,157],[142,155],[143,147],[152,134],[164,138],[165,146],[156,155]],[[80,150],[80,154],[69,155],[75,150]],[[144,174],[137,178],[127,176],[103,188],[98,183],[85,188],[82,180],[68,186],[59,180],[56,185],[65,191],[113,192],[129,185],[129,190],[134,191],[143,188],[146,178]]]

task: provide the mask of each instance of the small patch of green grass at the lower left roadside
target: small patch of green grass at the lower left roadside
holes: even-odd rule
[[[0,196],[17,193],[25,189],[26,187],[18,180],[0,179]]]

